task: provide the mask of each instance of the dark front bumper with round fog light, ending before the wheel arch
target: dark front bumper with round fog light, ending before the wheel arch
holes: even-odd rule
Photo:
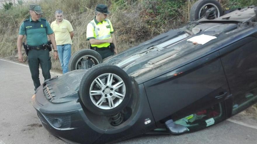
[[[46,99],[40,86],[37,93],[32,96],[32,105],[37,111],[41,124],[51,134],[63,140],[93,143],[103,135],[86,124],[86,115],[76,100],[53,104]]]

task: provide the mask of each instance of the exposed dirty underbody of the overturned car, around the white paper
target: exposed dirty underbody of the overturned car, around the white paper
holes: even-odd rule
[[[143,83],[153,75],[166,73],[167,71],[163,70],[167,67],[175,70],[190,63],[196,57],[204,56],[203,53],[207,55],[230,45],[244,35],[255,33],[256,22],[252,22],[252,19],[255,19],[253,8],[236,10],[215,20],[201,19],[158,35],[152,40],[105,60],[104,63],[118,65],[129,75],[135,77],[138,83]],[[193,28],[199,28],[201,32],[194,34]],[[217,39],[205,45],[194,45],[187,41],[191,37],[202,34],[216,36]],[[235,39],[235,37],[238,38]]]

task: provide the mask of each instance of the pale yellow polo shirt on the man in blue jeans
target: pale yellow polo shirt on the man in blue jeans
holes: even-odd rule
[[[73,31],[73,28],[69,21],[63,19],[58,25],[57,21],[55,20],[51,23],[51,28],[53,29],[55,35],[56,45],[72,44],[70,32]]]

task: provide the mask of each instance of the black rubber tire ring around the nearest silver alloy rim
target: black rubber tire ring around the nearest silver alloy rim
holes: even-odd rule
[[[91,101],[90,95],[89,95],[91,83],[94,81],[96,77],[105,73],[112,73],[112,74],[118,75],[124,81],[126,86],[126,94],[121,104],[109,110],[100,109],[97,106],[95,106]],[[81,102],[84,104],[84,106],[92,113],[95,113],[97,115],[103,115],[103,116],[114,115],[114,114],[117,114],[119,111],[123,110],[131,99],[131,93],[132,93],[132,83],[128,74],[120,67],[113,64],[108,64],[108,63],[95,65],[94,67],[88,69],[86,71],[86,74],[81,79],[80,86],[79,86],[79,97],[81,99]]]

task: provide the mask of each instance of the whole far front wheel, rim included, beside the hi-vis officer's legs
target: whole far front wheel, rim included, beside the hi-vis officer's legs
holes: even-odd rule
[[[68,68],[69,71],[89,69],[102,62],[102,57],[98,52],[92,49],[81,49],[70,58]]]

